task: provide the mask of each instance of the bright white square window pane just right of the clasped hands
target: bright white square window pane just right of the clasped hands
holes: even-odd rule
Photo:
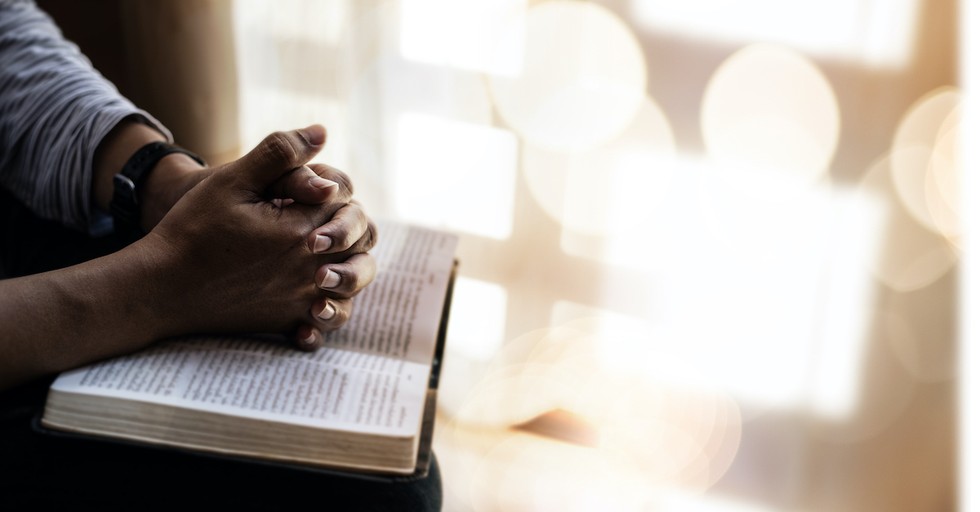
[[[404,114],[395,155],[399,216],[496,239],[510,236],[517,165],[510,132]]]

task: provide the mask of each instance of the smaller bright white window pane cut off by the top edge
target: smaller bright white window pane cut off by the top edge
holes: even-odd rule
[[[526,3],[404,0],[402,54],[428,64],[516,76],[523,64]]]

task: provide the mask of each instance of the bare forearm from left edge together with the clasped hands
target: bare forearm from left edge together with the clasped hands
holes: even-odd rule
[[[350,202],[343,173],[304,168],[325,137],[316,126],[270,135],[245,157],[211,170],[123,250],[0,281],[0,389],[180,334],[302,335],[305,327],[319,343],[320,332],[347,320],[350,298],[373,279],[366,251],[377,236]],[[335,178],[332,200],[274,204],[271,194],[297,183],[284,178],[306,169]],[[356,240],[341,236],[361,227]],[[317,253],[317,234],[336,238]],[[321,287],[327,269],[340,275],[332,289]],[[324,310],[332,315],[318,316]]]

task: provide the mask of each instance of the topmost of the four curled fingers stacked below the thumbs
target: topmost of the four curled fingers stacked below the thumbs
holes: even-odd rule
[[[310,232],[307,243],[314,254],[367,252],[377,241],[377,230],[360,203],[351,201],[337,210],[330,221]]]

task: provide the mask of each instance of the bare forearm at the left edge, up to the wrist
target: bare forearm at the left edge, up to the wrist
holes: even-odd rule
[[[164,314],[173,302],[163,300],[166,253],[148,245],[141,240],[81,265],[0,281],[0,389],[179,330],[179,318]]]

